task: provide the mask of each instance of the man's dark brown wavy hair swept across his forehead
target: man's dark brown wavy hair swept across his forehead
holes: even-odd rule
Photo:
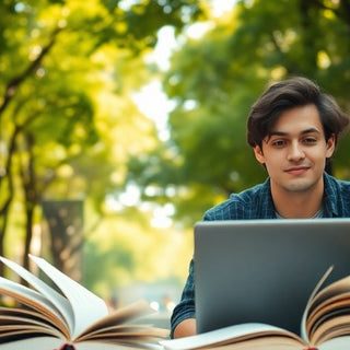
[[[326,140],[335,135],[336,142],[349,125],[349,117],[337,102],[310,79],[291,78],[268,88],[252,106],[247,121],[247,141],[259,145],[269,136],[276,121],[288,109],[313,104],[316,106]]]

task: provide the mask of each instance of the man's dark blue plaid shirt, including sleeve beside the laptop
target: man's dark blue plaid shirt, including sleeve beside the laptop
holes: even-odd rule
[[[324,174],[323,218],[350,218],[350,182],[338,180]],[[224,202],[209,209],[203,220],[276,219],[270,179],[240,194],[233,194]],[[171,337],[184,319],[195,318],[195,262],[189,264],[189,275],[182,300],[174,308],[171,319]]]

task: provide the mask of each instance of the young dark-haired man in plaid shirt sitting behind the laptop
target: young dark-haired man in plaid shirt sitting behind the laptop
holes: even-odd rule
[[[253,105],[247,140],[265,166],[264,184],[208,210],[205,220],[348,218],[350,182],[325,172],[338,137],[349,124],[329,95],[305,78],[270,86]],[[172,315],[174,338],[196,334],[194,260]]]

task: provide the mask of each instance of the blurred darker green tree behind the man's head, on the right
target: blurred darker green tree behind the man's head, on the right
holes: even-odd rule
[[[177,215],[190,224],[228,194],[266,177],[246,144],[245,124],[269,83],[306,75],[350,109],[349,1],[240,1],[226,19],[212,21],[201,38],[184,40],[165,73],[176,104],[168,143],[130,162],[130,177],[141,177],[144,188],[176,188]],[[334,163],[343,178],[346,153]],[[145,172],[150,163],[153,172]],[[166,201],[165,190],[160,194]]]

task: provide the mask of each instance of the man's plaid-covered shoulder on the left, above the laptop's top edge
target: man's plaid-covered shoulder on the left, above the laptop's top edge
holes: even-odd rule
[[[205,220],[240,220],[273,217],[270,180],[256,185],[209,209]]]

